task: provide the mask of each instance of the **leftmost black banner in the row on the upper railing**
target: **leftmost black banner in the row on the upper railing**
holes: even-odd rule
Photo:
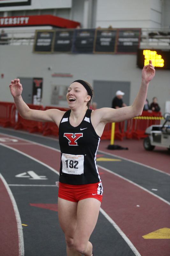
[[[34,52],[51,53],[54,41],[54,30],[36,30]]]

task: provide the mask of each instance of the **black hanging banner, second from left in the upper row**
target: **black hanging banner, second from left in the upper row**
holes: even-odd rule
[[[54,52],[71,52],[74,29],[58,29],[55,32]]]

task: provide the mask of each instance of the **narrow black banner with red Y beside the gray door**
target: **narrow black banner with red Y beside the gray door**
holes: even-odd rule
[[[33,105],[42,104],[42,82],[43,78],[33,78]]]

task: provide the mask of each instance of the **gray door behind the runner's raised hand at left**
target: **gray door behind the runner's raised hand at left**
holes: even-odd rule
[[[33,78],[31,77],[18,77],[22,84],[22,98],[27,104],[32,104],[33,101]]]

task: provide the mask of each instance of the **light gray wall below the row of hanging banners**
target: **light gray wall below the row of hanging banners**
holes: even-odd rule
[[[93,80],[129,81],[130,104],[137,95],[142,70],[136,67],[136,55],[34,54],[32,50],[31,45],[0,45],[0,74],[4,74],[4,78],[0,77],[0,101],[13,101],[9,84],[17,77],[43,78],[44,106],[50,105],[52,85],[69,86],[76,79],[86,80],[92,86]],[[48,70],[48,67],[52,67],[52,70]],[[73,77],[52,77],[55,72],[70,73]],[[156,75],[149,85],[149,102],[153,96],[158,97],[164,113],[165,101],[170,100],[169,70],[156,70]]]

